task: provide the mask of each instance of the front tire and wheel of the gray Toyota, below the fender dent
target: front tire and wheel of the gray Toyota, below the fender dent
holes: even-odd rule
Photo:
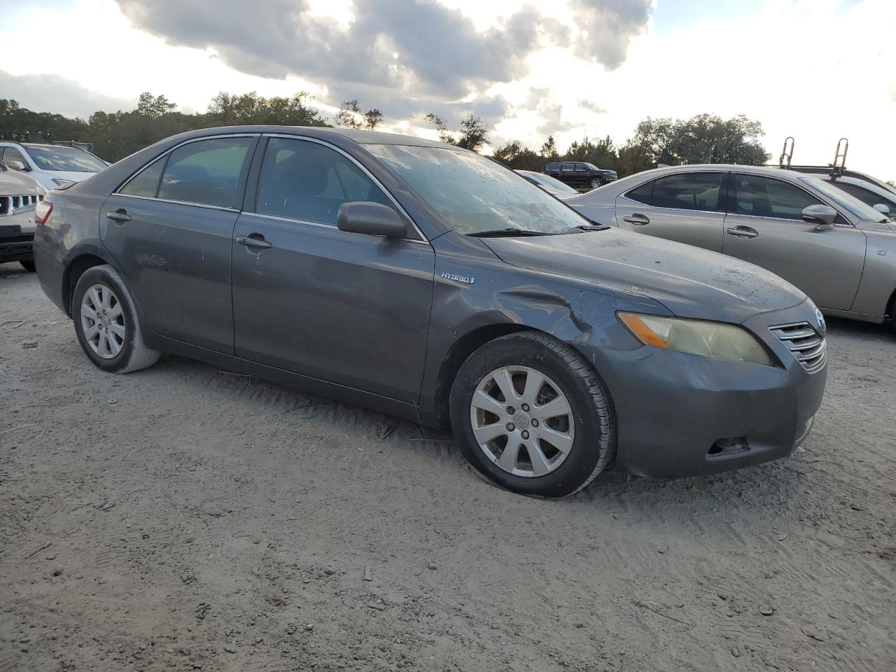
[[[504,371],[515,395],[510,405],[498,383]],[[538,375],[544,378],[541,385]],[[532,388],[538,388],[534,392],[527,388],[530,376],[536,376],[531,378]],[[569,412],[551,416],[548,402],[552,410]],[[452,431],[467,461],[522,495],[573,495],[616,452],[616,419],[606,386],[578,353],[545,333],[513,333],[476,350],[454,379],[449,405]],[[487,442],[493,434],[495,439]],[[529,454],[533,445],[537,459]]]

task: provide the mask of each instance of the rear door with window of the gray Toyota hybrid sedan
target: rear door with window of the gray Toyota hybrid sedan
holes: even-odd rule
[[[154,332],[233,353],[231,239],[257,140],[186,142],[104,203],[103,245]]]

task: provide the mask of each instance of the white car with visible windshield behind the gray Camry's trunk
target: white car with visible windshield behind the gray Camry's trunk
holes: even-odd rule
[[[0,163],[28,173],[47,191],[80,182],[108,166],[89,151],[37,142],[0,142]]]

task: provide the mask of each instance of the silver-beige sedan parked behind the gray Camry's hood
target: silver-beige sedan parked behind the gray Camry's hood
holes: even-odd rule
[[[762,166],[647,170],[567,201],[613,223],[755,263],[829,314],[892,316],[896,226],[823,176]]]

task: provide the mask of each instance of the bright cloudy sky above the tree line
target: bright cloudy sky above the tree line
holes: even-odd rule
[[[896,0],[0,0],[0,98],[67,116],[142,91],[358,99],[384,130],[470,113],[492,146],[617,144],[647,116],[745,114],[772,160],[896,179]]]

